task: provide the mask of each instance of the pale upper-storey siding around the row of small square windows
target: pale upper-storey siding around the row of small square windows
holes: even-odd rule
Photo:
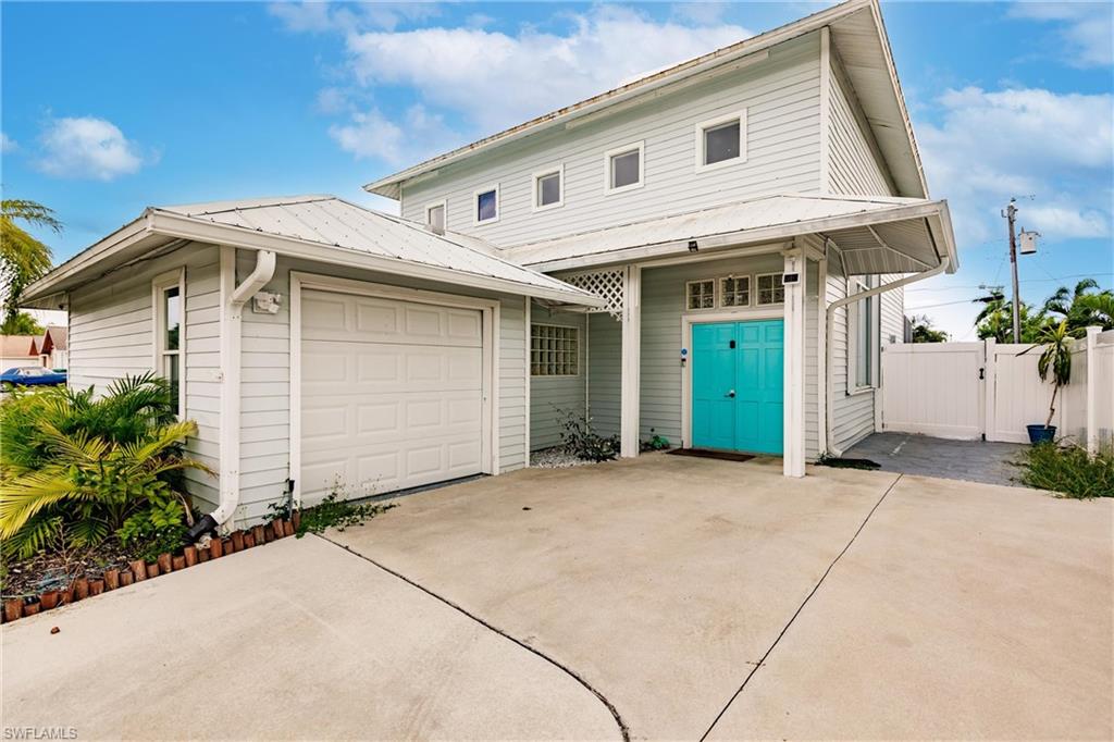
[[[746,162],[695,172],[695,125],[745,108]],[[447,199],[450,230],[509,246],[772,193],[820,191],[820,46],[813,33],[770,59],[582,126],[510,143],[408,185],[402,215]],[[604,195],[604,153],[645,143],[645,186]],[[534,213],[531,175],[565,166],[565,205]],[[473,192],[499,184],[500,215],[472,223]]]

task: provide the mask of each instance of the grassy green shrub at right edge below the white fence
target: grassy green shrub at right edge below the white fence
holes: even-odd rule
[[[1089,456],[1078,446],[1038,443],[1022,455],[1020,481],[1065,497],[1114,497],[1114,450]]]

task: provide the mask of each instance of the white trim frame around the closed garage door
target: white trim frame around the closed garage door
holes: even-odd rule
[[[302,502],[302,290],[375,296],[437,306],[479,310],[483,332],[483,411],[480,460],[483,473],[499,473],[499,301],[405,289],[315,273],[290,272],[290,477],[294,501]],[[527,379],[529,381],[529,379]],[[529,432],[527,432],[527,437]],[[528,456],[528,453],[527,453]]]

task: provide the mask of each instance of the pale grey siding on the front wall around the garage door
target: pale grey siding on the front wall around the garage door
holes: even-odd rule
[[[254,265],[250,254],[237,261],[242,280]],[[241,431],[241,506],[237,523],[260,518],[267,504],[283,497],[290,476],[290,272],[301,271],[385,283],[413,289],[496,296],[431,282],[356,271],[281,257],[274,279],[263,291],[282,295],[277,314],[255,314],[247,309],[243,321],[243,413]],[[498,339],[499,459],[500,470],[511,471],[526,462],[526,345],[525,312],[520,296],[500,300]],[[312,359],[303,359],[309,362]]]

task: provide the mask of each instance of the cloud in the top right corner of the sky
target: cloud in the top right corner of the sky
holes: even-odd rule
[[[1017,2],[1009,14],[1056,23],[1056,40],[1046,51],[1067,53],[1067,62],[1075,67],[1114,64],[1114,6],[1110,2]]]

